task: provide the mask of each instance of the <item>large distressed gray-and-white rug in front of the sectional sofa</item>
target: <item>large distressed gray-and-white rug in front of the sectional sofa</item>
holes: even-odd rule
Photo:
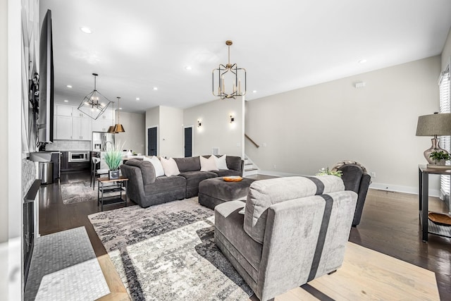
[[[132,300],[247,300],[252,290],[214,243],[197,197],[88,216]]]

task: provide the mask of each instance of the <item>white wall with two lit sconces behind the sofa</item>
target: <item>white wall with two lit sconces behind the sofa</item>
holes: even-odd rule
[[[216,100],[185,109],[183,124],[193,125],[193,156],[211,154],[219,147],[220,154],[242,156],[244,137],[244,100]],[[230,123],[230,115],[235,121]],[[197,126],[197,120],[202,126]]]

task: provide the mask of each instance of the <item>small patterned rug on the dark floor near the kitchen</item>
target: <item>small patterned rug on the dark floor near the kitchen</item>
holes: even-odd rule
[[[94,190],[92,186],[89,186],[89,181],[61,184],[61,197],[63,198],[63,204],[75,204],[80,202],[97,202],[97,183]],[[118,192],[116,192],[117,194]],[[108,197],[110,194],[105,193],[104,196]],[[125,195],[125,193],[123,194]]]

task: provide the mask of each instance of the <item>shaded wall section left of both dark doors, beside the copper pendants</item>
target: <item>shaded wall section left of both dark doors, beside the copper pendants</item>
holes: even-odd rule
[[[117,123],[118,112],[116,112],[115,116],[116,120],[114,123]],[[144,154],[146,139],[145,119],[144,114],[119,112],[119,121],[121,121],[125,133],[118,133],[115,136],[118,142],[124,143],[123,149],[132,149],[132,152]]]

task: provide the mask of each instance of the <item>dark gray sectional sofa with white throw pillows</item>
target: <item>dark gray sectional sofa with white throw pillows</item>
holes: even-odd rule
[[[210,155],[204,156],[209,158]],[[199,156],[174,158],[180,174],[178,176],[155,176],[155,169],[149,161],[130,159],[121,165],[123,176],[127,177],[127,196],[141,207],[195,197],[199,183],[218,176],[242,176],[244,161],[240,156],[226,156],[227,170],[200,171]]]

